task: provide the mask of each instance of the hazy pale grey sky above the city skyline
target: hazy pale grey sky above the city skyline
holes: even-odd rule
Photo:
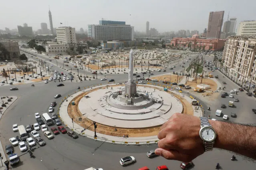
[[[3,1],[3,0],[1,0]],[[0,1],[0,2],[1,2]],[[242,20],[256,20],[256,0],[9,0],[0,3],[0,29],[17,28],[27,23],[33,30],[46,22],[50,28],[48,5],[52,12],[53,27],[72,26],[76,30],[87,29],[88,24],[99,20],[125,21],[135,31],[156,28],[159,32],[199,30],[208,25],[210,11],[224,10]]]

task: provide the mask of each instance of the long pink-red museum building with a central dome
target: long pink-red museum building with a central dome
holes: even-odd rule
[[[205,49],[212,51],[220,51],[223,49],[225,45],[225,39],[205,39],[200,38],[197,34],[192,36],[192,38],[173,38],[171,40],[171,46],[174,47],[183,47],[183,48],[191,48],[191,49]]]

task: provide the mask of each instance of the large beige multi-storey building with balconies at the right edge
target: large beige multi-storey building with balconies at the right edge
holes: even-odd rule
[[[222,59],[222,71],[233,81],[243,87],[256,85],[256,37],[229,37]]]

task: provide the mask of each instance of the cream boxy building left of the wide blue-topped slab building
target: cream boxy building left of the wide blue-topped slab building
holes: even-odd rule
[[[77,43],[76,30],[72,27],[56,28],[58,43],[73,44]]]

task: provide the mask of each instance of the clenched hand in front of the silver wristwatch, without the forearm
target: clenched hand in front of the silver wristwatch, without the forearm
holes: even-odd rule
[[[157,135],[159,148],[155,154],[169,160],[190,162],[204,153],[203,140],[199,136],[200,128],[199,117],[173,114]]]

